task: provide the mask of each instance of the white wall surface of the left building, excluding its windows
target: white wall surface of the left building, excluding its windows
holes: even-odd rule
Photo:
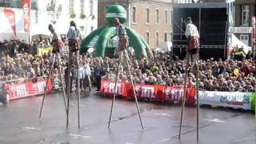
[[[67,30],[70,26],[70,21],[74,20],[77,23],[78,29],[83,26],[84,30],[81,30],[81,34],[85,37],[87,34],[90,34],[91,27],[94,27],[94,30],[98,27],[98,0],[94,1],[94,19],[92,15],[90,15],[90,0],[84,0],[84,11],[86,14],[86,18],[80,18],[80,0],[74,0],[74,12],[76,14],[76,18],[70,18],[70,1],[66,0],[63,2],[62,0],[56,0],[56,5],[62,6],[62,11],[59,13],[58,17],[56,13],[54,14],[53,11],[47,11],[47,4],[50,4],[51,0],[40,0],[38,1],[38,10],[31,10],[30,16],[30,35],[34,34],[50,34],[48,30],[49,23],[55,21],[54,24],[55,30],[58,31],[60,34],[66,34]],[[1,18],[5,18],[2,10],[4,8],[0,7],[0,16]],[[24,26],[23,26],[23,10],[17,8],[7,8],[14,10],[15,17],[16,17],[16,30],[18,32],[19,39],[26,39],[28,42],[28,34],[24,33]],[[57,8],[56,8],[57,10]],[[54,16],[53,16],[54,14]],[[12,29],[10,28],[10,23],[6,20],[6,18],[0,22],[0,40],[2,39],[10,39],[12,37]],[[25,35],[25,36],[24,36]]]

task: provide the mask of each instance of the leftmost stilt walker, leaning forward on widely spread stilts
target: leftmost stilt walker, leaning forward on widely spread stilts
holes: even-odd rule
[[[41,105],[41,109],[40,109],[39,118],[42,117],[42,107],[43,107],[43,104],[44,104],[44,101],[45,101],[45,98],[46,98],[47,87],[48,87],[48,83],[49,83],[49,80],[50,80],[50,76],[52,74],[52,71],[53,71],[53,68],[54,68],[54,64],[55,64],[56,61],[57,61],[57,64],[58,64],[58,70],[59,70],[60,79],[61,79],[61,82],[62,82],[62,92],[63,92],[63,98],[64,98],[64,103],[65,103],[65,110],[67,110],[67,106],[66,106],[66,91],[65,91],[65,84],[63,82],[62,66],[60,65],[60,62],[61,62],[60,59],[61,58],[60,58],[60,54],[59,54],[59,51],[60,51],[60,49],[62,49],[64,44],[63,44],[61,38],[58,36],[58,34],[54,31],[54,27],[52,25],[49,25],[48,29],[53,34],[53,39],[52,39],[52,41],[53,41],[53,59],[52,59],[51,65],[50,65],[49,74],[48,74],[48,76],[46,78],[46,87],[45,87],[44,95],[43,95],[43,98],[42,98],[42,105]]]

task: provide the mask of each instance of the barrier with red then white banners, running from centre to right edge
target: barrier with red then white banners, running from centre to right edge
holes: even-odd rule
[[[134,84],[134,90],[138,99],[150,99],[181,103],[183,86],[163,86],[163,85],[144,85]],[[132,86],[130,82],[117,83],[117,96],[123,98],[133,98]],[[101,92],[103,94],[114,94],[114,82],[102,79]],[[195,88],[186,88],[186,104],[195,105]],[[210,106],[224,106],[234,109],[255,110],[256,93],[246,92],[224,92],[199,90],[199,104]]]

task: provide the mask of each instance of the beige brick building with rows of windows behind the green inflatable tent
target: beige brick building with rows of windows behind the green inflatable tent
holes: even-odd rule
[[[171,42],[172,2],[170,0],[98,0],[98,26],[104,26],[108,6],[118,4],[127,11],[127,26],[145,38],[150,48]]]

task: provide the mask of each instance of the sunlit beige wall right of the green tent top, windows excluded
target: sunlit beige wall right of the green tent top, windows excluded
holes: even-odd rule
[[[171,5],[154,2],[133,2],[131,8],[135,7],[136,10],[136,22],[131,22],[131,27],[136,30],[143,38],[146,39],[146,32],[149,32],[150,39],[149,45],[153,49],[158,47],[156,42],[156,33],[159,34],[159,43],[164,42],[164,34],[167,34],[167,40],[170,41],[170,34],[172,33]],[[146,9],[150,10],[150,22],[146,23]],[[159,23],[156,23],[156,10],[159,10]],[[167,23],[165,18],[165,11],[167,11]],[[130,14],[132,18],[132,14]]]

